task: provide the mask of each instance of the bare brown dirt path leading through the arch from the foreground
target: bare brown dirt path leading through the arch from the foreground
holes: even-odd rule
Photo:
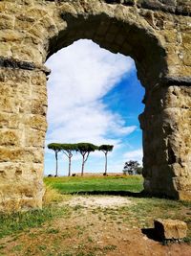
[[[3,239],[0,255],[59,256],[190,256],[191,245],[161,243],[148,238],[136,220],[122,220],[118,209],[134,203],[122,197],[72,197],[57,207],[71,207],[71,215]],[[127,218],[127,217],[126,217]]]

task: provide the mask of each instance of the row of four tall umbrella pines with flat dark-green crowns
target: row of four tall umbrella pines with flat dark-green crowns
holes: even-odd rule
[[[113,151],[113,145],[101,145],[96,146],[92,143],[51,143],[48,145],[50,150],[54,151],[55,154],[55,176],[58,175],[58,152],[63,152],[69,159],[69,168],[68,168],[68,176],[71,176],[72,169],[72,157],[74,152],[79,152],[82,156],[82,165],[81,165],[81,175],[84,175],[84,166],[91,152],[93,151],[102,151],[105,154],[105,171],[104,175],[107,175],[107,155],[109,151]]]

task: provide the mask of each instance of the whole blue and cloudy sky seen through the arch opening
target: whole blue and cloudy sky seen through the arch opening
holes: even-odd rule
[[[53,151],[49,143],[90,142],[114,145],[108,154],[108,172],[121,173],[124,163],[142,164],[142,133],[138,114],[144,89],[130,57],[100,48],[87,39],[75,41],[49,58],[48,131],[45,146],[45,175],[54,175]],[[58,175],[67,175],[68,158],[58,154]],[[72,173],[80,173],[81,155],[74,153]],[[103,173],[104,154],[92,152],[86,173]]]

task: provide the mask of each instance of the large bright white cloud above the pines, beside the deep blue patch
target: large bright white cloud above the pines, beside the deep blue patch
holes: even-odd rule
[[[120,136],[137,128],[126,127],[122,117],[101,100],[135,68],[131,58],[111,54],[90,40],[79,40],[49,58],[47,65],[52,69],[47,142],[90,141],[117,146]]]

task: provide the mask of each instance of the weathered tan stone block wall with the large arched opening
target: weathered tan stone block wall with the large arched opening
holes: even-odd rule
[[[41,207],[47,58],[79,38],[135,59],[144,188],[191,199],[189,0],[0,1],[0,210]]]

